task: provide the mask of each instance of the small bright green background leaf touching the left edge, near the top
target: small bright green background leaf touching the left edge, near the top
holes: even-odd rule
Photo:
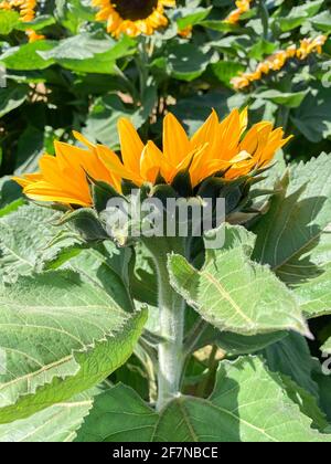
[[[0,55],[0,62],[9,70],[14,71],[45,70],[54,61],[52,59],[44,60],[39,52],[52,50],[56,43],[55,41],[40,40],[20,46],[12,46]]]

